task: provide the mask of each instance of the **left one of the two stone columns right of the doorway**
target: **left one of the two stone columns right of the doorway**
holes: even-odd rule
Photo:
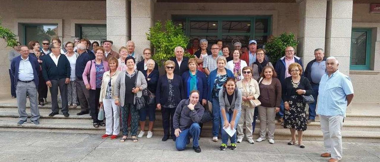
[[[314,50],[325,48],[326,0],[297,0],[299,25],[297,56],[303,58],[304,68],[315,59]]]

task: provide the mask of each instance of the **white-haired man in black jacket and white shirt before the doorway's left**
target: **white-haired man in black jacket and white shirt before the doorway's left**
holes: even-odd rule
[[[187,65],[189,59],[184,57],[184,48],[180,46],[174,48],[174,54],[176,57],[170,58],[171,61],[174,61],[174,63],[176,63],[176,67],[174,67],[173,73],[182,76],[184,72],[187,72],[189,70]]]

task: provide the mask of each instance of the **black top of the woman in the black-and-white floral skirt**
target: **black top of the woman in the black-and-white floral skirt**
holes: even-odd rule
[[[297,84],[297,83],[293,83],[291,76],[289,76],[288,78],[285,78],[285,84],[284,86],[282,86],[282,100],[284,102],[289,101],[289,98],[294,95],[297,97],[301,97],[301,95],[297,94],[296,92],[297,89],[306,90],[306,93],[304,95],[313,94],[313,89],[310,85],[309,79],[307,79],[306,77],[301,75],[301,79],[299,80],[299,84],[297,88],[294,88],[293,84]]]

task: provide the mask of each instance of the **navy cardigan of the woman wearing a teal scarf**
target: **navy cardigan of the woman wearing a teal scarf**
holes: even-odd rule
[[[185,92],[186,99],[190,97],[187,95],[187,88],[189,86],[187,85],[187,80],[190,78],[189,72],[190,70],[182,74],[182,80],[184,81],[184,92]],[[199,94],[199,101],[202,101],[202,99],[207,100],[207,78],[206,78],[206,75],[199,70],[196,71],[196,82],[197,82],[196,86],[198,88],[198,91],[199,93],[201,93]]]

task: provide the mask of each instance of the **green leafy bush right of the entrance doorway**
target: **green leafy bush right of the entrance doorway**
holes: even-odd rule
[[[285,48],[291,46],[296,50],[298,41],[293,33],[282,33],[280,36],[273,37],[270,42],[265,44],[265,50],[270,56],[271,62],[276,62],[285,55]]]

